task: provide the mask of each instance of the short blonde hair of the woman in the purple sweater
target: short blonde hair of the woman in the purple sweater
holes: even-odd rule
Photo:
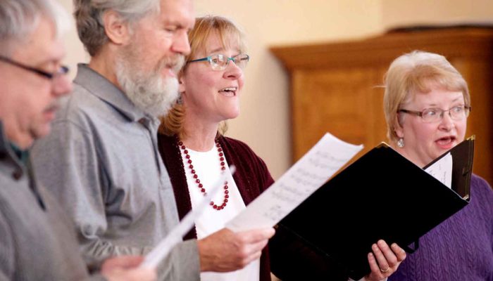
[[[384,84],[383,107],[387,138],[391,142],[398,140],[395,130],[401,124],[397,114],[399,107],[411,100],[417,92],[428,93],[432,86],[437,85],[447,91],[461,91],[464,102],[470,105],[466,80],[447,58],[436,53],[412,51],[401,55],[390,64]]]

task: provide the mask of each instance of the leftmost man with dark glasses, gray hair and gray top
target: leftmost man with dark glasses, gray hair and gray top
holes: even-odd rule
[[[59,41],[67,23],[51,0],[0,1],[0,280],[154,280],[128,256],[89,277],[72,224],[30,169],[28,149],[72,89]]]

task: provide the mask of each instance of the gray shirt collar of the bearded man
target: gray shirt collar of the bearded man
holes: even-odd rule
[[[74,83],[104,100],[132,122],[137,122],[142,118],[153,121],[155,119],[136,107],[123,91],[101,74],[89,68],[87,64],[80,63],[77,65],[77,76],[74,79]]]

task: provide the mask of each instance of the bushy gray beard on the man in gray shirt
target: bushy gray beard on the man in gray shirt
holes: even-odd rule
[[[175,68],[180,69],[183,58]],[[178,80],[176,77],[161,77],[161,70],[165,63],[161,63],[158,70],[146,73],[133,68],[132,63],[125,59],[116,62],[116,77],[127,98],[140,110],[151,117],[161,117],[177,100]]]

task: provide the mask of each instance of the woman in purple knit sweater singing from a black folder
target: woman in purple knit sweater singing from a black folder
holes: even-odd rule
[[[387,136],[418,166],[463,141],[470,108],[466,81],[442,55],[406,53],[387,71]],[[420,237],[389,280],[493,280],[493,191],[473,175],[470,192],[468,206]]]

